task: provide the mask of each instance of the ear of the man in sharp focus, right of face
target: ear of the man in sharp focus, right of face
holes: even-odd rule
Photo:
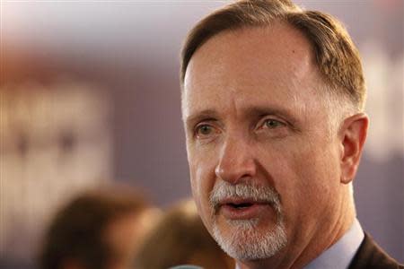
[[[361,159],[364,141],[366,140],[369,118],[364,113],[347,117],[341,128],[341,183],[348,184],[356,176]]]

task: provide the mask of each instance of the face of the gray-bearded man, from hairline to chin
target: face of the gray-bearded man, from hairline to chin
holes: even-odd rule
[[[313,62],[303,35],[276,24],[221,33],[189,63],[192,192],[207,230],[239,260],[294,251],[338,212],[340,143]]]

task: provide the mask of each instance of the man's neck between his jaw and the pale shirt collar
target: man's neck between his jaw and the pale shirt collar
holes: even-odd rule
[[[356,210],[352,192],[347,186],[347,192],[342,195],[338,207],[338,214],[326,216],[324,220],[312,224],[312,234],[302,230],[295,239],[276,256],[256,261],[237,261],[240,269],[288,269],[303,268],[322,252],[334,245],[349,230],[356,218]],[[321,223],[321,224],[320,224]]]

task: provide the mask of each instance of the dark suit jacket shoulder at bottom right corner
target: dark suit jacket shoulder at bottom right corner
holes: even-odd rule
[[[364,234],[364,241],[356,252],[349,269],[398,269],[404,268],[368,235]]]

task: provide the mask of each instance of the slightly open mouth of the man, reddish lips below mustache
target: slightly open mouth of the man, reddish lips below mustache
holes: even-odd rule
[[[262,216],[268,210],[272,210],[269,204],[251,204],[248,207],[235,208],[224,204],[220,206],[219,213],[229,220],[249,220]]]

